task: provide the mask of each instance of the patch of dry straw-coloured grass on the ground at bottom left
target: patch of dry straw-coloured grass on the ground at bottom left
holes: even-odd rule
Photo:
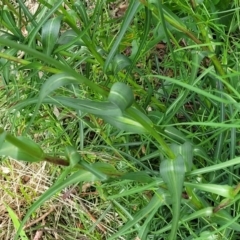
[[[34,200],[53,184],[49,169],[47,163],[26,164],[14,160],[2,162],[0,239],[11,240],[16,232],[4,204],[11,207],[18,218],[22,219]],[[88,227],[93,224],[94,236],[96,231],[99,237],[113,232],[110,227],[111,222],[116,220],[113,215],[108,214],[102,221],[97,221],[104,209],[98,209],[98,193],[87,192],[90,187],[90,184],[84,185],[85,192],[82,193],[79,193],[76,186],[65,189],[46,202],[24,228],[29,239],[92,239]],[[99,239],[104,239],[102,237]]]

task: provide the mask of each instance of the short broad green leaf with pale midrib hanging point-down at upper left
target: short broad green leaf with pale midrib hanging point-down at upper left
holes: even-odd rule
[[[62,17],[55,17],[49,19],[42,27],[42,45],[43,52],[48,56],[51,55],[57,40],[61,26]]]

